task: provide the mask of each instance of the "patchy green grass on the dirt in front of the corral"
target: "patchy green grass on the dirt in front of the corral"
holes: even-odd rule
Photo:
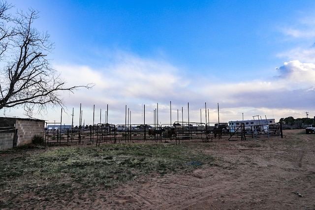
[[[201,147],[201,145],[200,145]],[[187,144],[114,144],[100,147],[50,148],[23,153],[0,161],[0,196],[17,198],[34,194],[43,200],[63,195],[69,202],[74,191],[84,193],[96,186],[115,187],[142,176],[188,173],[215,157],[196,152]],[[188,165],[187,163],[200,162]],[[27,201],[26,201],[27,202]],[[29,201],[34,202],[34,201]],[[0,203],[16,208],[17,203]]]

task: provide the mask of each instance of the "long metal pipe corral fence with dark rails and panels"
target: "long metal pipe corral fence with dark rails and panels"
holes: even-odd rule
[[[47,123],[49,124],[49,123]],[[54,122],[53,124],[56,124]],[[46,126],[47,127],[47,126]],[[231,132],[233,131],[233,132]],[[98,123],[94,126],[46,129],[45,142],[49,145],[91,145],[135,142],[168,143],[175,141],[211,142],[214,139],[228,141],[256,140],[261,137],[282,137],[281,124],[246,127],[244,123],[230,129],[227,123],[217,122],[183,122],[173,124],[109,124]]]

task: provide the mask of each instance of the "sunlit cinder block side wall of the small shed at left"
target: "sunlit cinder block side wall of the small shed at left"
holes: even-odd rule
[[[45,121],[42,120],[16,120],[15,128],[18,129],[17,146],[32,143],[34,135],[44,136]]]

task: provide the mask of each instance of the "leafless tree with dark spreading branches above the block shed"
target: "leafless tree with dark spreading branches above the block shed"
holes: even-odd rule
[[[64,106],[61,93],[80,87],[65,87],[51,68],[47,55],[53,50],[49,34],[32,27],[38,12],[7,14],[12,6],[0,2],[0,109],[23,107],[26,114],[40,113],[49,106]]]

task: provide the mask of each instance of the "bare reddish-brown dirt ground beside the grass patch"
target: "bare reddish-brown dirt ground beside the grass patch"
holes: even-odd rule
[[[214,140],[205,143],[213,145],[206,152],[220,158],[190,174],[139,178],[115,189],[95,188],[93,196],[80,195],[70,205],[56,199],[21,209],[315,210],[315,135],[302,132]]]

